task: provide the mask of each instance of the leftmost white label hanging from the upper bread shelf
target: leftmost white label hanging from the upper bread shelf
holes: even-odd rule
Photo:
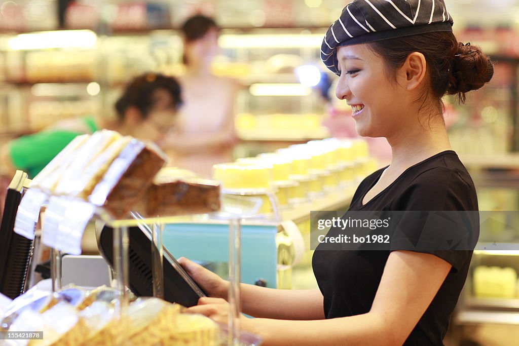
[[[39,218],[39,211],[47,200],[47,195],[37,189],[25,192],[18,206],[15,219],[15,232],[27,239],[34,239],[34,229]]]

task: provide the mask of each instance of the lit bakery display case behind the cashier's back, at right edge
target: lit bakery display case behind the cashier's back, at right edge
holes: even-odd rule
[[[510,169],[516,163],[499,161],[468,164],[482,232],[454,315],[454,344],[480,342],[495,333],[502,333],[503,339],[493,341],[509,344],[506,336],[519,330],[519,184],[517,170]]]

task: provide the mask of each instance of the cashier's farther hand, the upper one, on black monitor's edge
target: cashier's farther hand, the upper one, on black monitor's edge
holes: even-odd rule
[[[209,297],[227,298],[228,281],[185,257],[179,258],[178,262]]]

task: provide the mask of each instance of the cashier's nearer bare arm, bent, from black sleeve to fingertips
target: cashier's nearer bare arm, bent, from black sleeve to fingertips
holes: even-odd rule
[[[242,328],[276,345],[402,345],[438,293],[451,266],[430,254],[392,252],[370,312],[319,321],[242,318]],[[427,275],[424,275],[427,273]],[[202,301],[203,303],[203,301]],[[189,308],[226,323],[227,305]]]

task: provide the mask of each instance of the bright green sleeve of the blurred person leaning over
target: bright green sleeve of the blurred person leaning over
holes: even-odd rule
[[[44,131],[22,136],[9,144],[13,165],[32,178],[80,133]]]

